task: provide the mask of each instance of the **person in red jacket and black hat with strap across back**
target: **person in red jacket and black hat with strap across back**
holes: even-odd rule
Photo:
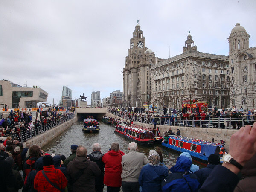
[[[44,169],[39,171],[35,176],[35,190],[38,192],[59,192],[64,190],[67,186],[67,179],[60,169],[54,168],[52,156],[45,155],[43,157],[43,163]]]

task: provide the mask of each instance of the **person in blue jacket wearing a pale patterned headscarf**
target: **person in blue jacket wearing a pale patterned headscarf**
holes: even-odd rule
[[[161,192],[161,182],[168,176],[168,170],[160,164],[160,156],[155,150],[149,151],[148,165],[141,169],[139,184],[142,192]]]

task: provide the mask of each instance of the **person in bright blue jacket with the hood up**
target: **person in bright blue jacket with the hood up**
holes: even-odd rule
[[[170,171],[172,172],[162,181],[163,192],[197,192],[200,183],[194,173],[189,173],[192,161],[186,156],[180,156],[176,165]]]

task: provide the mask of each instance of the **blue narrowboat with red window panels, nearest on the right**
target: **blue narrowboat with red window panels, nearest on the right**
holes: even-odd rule
[[[210,154],[217,154],[220,162],[227,153],[225,147],[220,143],[213,143],[204,140],[191,139],[183,136],[169,135],[168,143],[162,143],[162,146],[177,152],[188,152],[192,159],[207,164]]]

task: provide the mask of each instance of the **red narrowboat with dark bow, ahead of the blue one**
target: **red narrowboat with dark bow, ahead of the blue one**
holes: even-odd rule
[[[153,146],[154,136],[151,131],[134,127],[133,125],[116,125],[116,134],[134,141],[138,145]]]

